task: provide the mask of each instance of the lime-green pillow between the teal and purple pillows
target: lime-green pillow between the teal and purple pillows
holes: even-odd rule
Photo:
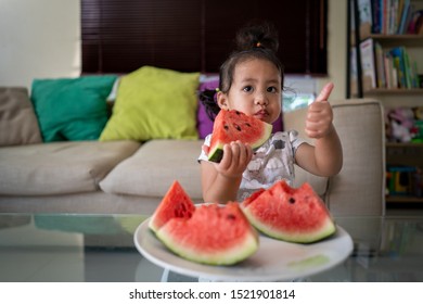
[[[143,66],[120,78],[100,140],[196,139],[200,73]]]

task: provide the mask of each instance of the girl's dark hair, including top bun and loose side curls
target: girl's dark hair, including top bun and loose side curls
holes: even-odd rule
[[[278,31],[272,24],[252,23],[246,25],[238,31],[235,43],[235,50],[220,66],[218,90],[223,93],[229,92],[236,65],[251,59],[261,59],[273,63],[281,75],[281,89],[283,89],[284,67],[277,56]],[[200,100],[205,105],[206,113],[211,121],[220,111],[216,102],[216,92],[217,90],[204,90],[200,93]]]

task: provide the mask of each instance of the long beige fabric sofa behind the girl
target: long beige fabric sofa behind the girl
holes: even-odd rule
[[[120,92],[124,94],[120,86],[124,83],[119,84],[116,101]],[[1,90],[8,101],[0,93],[0,213],[150,215],[174,180],[182,185],[194,202],[203,202],[201,166],[196,161],[203,143],[198,117],[194,118],[197,134],[193,137],[104,139],[104,130],[114,115],[123,111],[116,102],[97,139],[46,141],[41,107],[31,100],[28,90]],[[37,90],[33,86],[33,94]],[[110,93],[113,90],[107,91],[107,97]],[[381,103],[376,100],[331,102],[343,144],[344,166],[331,178],[296,168],[295,183],[310,182],[333,215],[382,215],[385,156]],[[14,109],[16,104],[21,104],[18,109]],[[56,107],[54,111],[60,111]],[[193,111],[198,111],[197,104]],[[306,109],[284,113],[284,128],[296,129],[302,135],[305,115]],[[125,123],[124,119],[118,126]]]

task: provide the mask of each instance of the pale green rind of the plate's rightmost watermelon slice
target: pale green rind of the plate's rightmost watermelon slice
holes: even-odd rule
[[[313,232],[302,232],[297,233],[283,232],[278,229],[272,229],[269,225],[266,225],[261,220],[258,220],[248,210],[248,207],[243,207],[243,212],[245,216],[248,218],[249,223],[261,233],[268,236],[273,239],[278,239],[281,241],[293,242],[293,243],[313,243],[320,240],[323,240],[336,231],[336,226],[334,221],[328,217],[321,228]]]

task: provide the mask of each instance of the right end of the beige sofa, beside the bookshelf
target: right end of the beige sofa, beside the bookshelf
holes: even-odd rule
[[[328,179],[324,201],[333,215],[384,215],[383,106],[380,101],[371,99],[351,99],[331,103],[334,125],[343,147],[344,164],[338,175]],[[298,130],[307,140],[304,132],[306,113],[306,109],[286,113],[284,126],[285,129]],[[315,186],[316,180],[321,182],[317,177],[304,172],[300,172],[297,177],[296,185],[312,181],[311,185]]]

